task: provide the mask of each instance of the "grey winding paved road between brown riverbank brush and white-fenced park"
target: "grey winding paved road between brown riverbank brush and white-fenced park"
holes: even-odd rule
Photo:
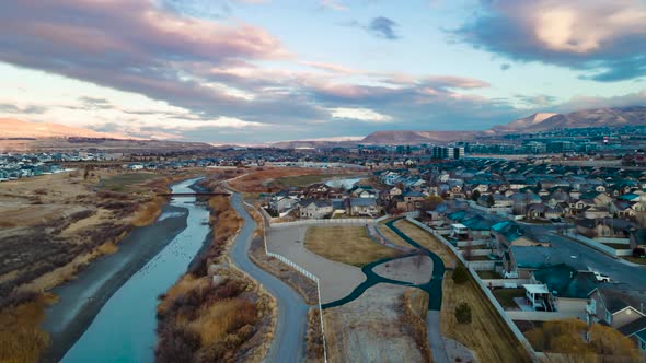
[[[265,361],[279,363],[304,362],[309,306],[296,291],[273,274],[258,268],[249,259],[247,251],[256,223],[244,209],[240,194],[233,194],[231,204],[235,212],[244,220],[244,225],[235,237],[233,247],[231,248],[231,259],[238,268],[262,283],[276,298],[278,305],[278,319],[274,332],[274,341]]]

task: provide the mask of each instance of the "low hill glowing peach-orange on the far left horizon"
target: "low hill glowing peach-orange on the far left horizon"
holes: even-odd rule
[[[0,118],[0,138],[137,139],[119,133],[97,132],[90,129],[69,127],[59,124],[28,122],[13,118]]]

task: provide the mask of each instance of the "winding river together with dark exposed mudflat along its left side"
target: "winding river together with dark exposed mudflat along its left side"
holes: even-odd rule
[[[192,192],[191,186],[196,180],[177,183],[171,186],[171,189],[173,192]],[[119,247],[119,251],[92,264],[88,271],[80,274],[79,281],[74,280],[55,291],[61,296],[62,304],[57,304],[60,305],[58,312],[56,305],[48,312],[45,328],[56,338],[57,329],[69,330],[70,326],[80,325],[76,327],[77,330],[80,329],[77,333],[66,331],[68,347],[61,338],[58,354],[65,353],[62,362],[154,360],[158,296],[166,292],[186,271],[210,232],[209,211],[195,201],[195,197],[173,197],[153,224],[135,230],[122,242],[123,247]],[[147,256],[128,253],[128,248],[149,248],[151,251]],[[129,260],[124,262],[124,259]],[[111,268],[111,264],[125,265]],[[136,266],[136,272],[124,272],[128,268],[132,269],[132,266]],[[112,277],[104,278],[103,272],[112,273]],[[97,279],[104,279],[105,282],[96,283]],[[106,295],[105,303],[99,303],[97,314],[94,316],[84,312],[89,303],[82,305],[78,300],[86,298],[91,302],[101,298],[101,290],[109,290],[106,285],[109,285],[111,281],[114,289],[107,293],[103,292]],[[94,286],[96,284],[97,286]],[[95,292],[84,293],[88,289],[94,289]],[[91,323],[82,323],[83,314],[91,314],[85,318]],[[67,350],[69,343],[77,338],[76,343]],[[56,339],[54,341],[56,342]],[[56,355],[54,353],[51,358],[57,360]]]

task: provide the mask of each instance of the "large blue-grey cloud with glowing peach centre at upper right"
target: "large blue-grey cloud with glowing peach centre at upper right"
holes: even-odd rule
[[[600,82],[646,74],[641,0],[482,1],[476,16],[452,34],[509,59],[567,67]]]

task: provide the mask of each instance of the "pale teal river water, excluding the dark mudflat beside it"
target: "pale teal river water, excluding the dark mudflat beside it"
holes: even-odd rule
[[[195,182],[171,188],[192,192]],[[153,362],[158,296],[186,271],[210,231],[209,211],[195,197],[174,197],[170,204],[187,211],[186,229],[109,297],[62,362]],[[155,223],[172,216],[162,214]]]

